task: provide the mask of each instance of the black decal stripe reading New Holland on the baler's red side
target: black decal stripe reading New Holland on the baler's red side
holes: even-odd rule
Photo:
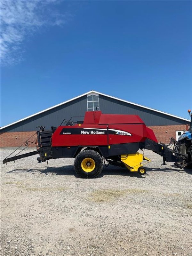
[[[116,129],[101,129],[101,128],[63,128],[60,132],[63,135],[73,135],[73,134],[90,134],[90,135],[107,135],[107,134],[114,134],[114,135],[125,135],[125,136],[132,136],[131,133],[116,130]]]

